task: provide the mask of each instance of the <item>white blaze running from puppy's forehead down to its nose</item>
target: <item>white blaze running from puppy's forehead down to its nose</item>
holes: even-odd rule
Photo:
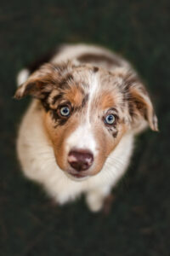
[[[72,148],[83,148],[91,150],[95,155],[97,152],[97,145],[94,138],[94,131],[92,124],[90,123],[91,105],[96,95],[96,91],[99,88],[99,81],[96,73],[91,73],[88,79],[89,83],[89,97],[88,97],[88,109],[83,117],[80,119],[80,125],[73,131],[66,142],[67,152]]]

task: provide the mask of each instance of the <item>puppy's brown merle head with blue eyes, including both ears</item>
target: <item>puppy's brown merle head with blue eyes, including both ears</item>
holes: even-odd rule
[[[127,132],[157,130],[150,98],[135,73],[91,65],[45,64],[16,91],[37,97],[59,167],[71,178],[100,172]]]

